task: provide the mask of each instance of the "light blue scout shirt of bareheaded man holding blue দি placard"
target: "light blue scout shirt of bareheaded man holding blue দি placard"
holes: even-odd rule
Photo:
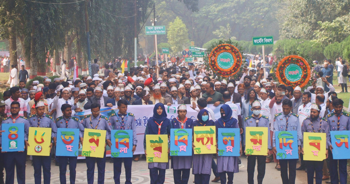
[[[288,117],[288,127],[287,126]],[[296,131],[298,146],[301,145],[303,135],[301,134],[301,127],[299,123],[299,116],[294,113],[289,113],[285,115],[283,113],[278,113],[273,119],[273,136],[272,136],[272,147],[276,147],[275,131]]]

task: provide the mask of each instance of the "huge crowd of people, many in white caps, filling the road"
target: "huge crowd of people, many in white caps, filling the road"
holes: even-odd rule
[[[267,56],[268,57],[268,56]],[[137,112],[127,111],[128,105],[154,105],[153,116],[148,118],[145,136],[149,134],[170,134],[170,128],[193,128],[195,126],[215,126],[216,128],[240,129],[240,154],[247,156],[247,183],[254,183],[255,162],[257,160],[258,183],[265,176],[265,164],[276,163],[280,170],[282,183],[295,183],[296,171],[306,170],[308,183],[321,183],[328,179],[331,183],[346,183],[346,159],[332,157],[330,131],[350,130],[350,115],[343,111],[343,101],[329,81],[328,70],[311,79],[313,84],[304,90],[300,87],[285,86],[273,81],[270,73],[264,73],[259,67],[261,61],[255,58],[252,68],[245,68],[243,74],[233,79],[214,77],[204,64],[179,62],[160,62],[159,66],[145,62],[138,67],[124,66],[124,73],[106,63],[100,72],[97,59],[91,65],[92,75],[82,75],[81,79],[69,79],[69,76],[48,77],[43,82],[33,81],[26,87],[25,80],[19,80],[18,86],[3,93],[0,100],[0,121],[4,123],[25,123],[25,145],[28,146],[29,127],[48,127],[52,129],[52,143],[55,147],[57,128],[77,128],[80,130],[79,142],[83,144],[85,128],[106,130],[106,145],[111,146],[112,129],[132,129],[136,131]],[[273,61],[273,57],[271,57]],[[101,61],[99,61],[101,63]],[[327,61],[328,62],[328,61]],[[66,64],[66,63],[64,63]],[[324,63],[324,68],[329,65]],[[340,68],[340,66],[338,66]],[[21,74],[22,75],[22,74]],[[267,77],[264,78],[264,75]],[[346,83],[346,80],[345,80]],[[345,85],[346,86],[346,85]],[[345,88],[344,85],[342,87]],[[345,88],[346,90],[347,88]],[[186,105],[188,104],[188,105]],[[208,104],[220,108],[221,117],[216,118]],[[167,118],[165,105],[177,106],[178,116]],[[117,106],[118,111],[110,117],[100,114],[101,107]],[[187,108],[198,111],[197,119],[187,117]],[[91,110],[91,115],[83,121],[74,117],[75,113]],[[151,110],[150,110],[150,114]],[[128,118],[129,117],[129,118]],[[268,152],[266,156],[245,153],[245,128],[267,127],[269,129]],[[275,132],[297,131],[298,149],[301,165],[296,168],[298,159],[276,158]],[[3,131],[2,131],[3,132]],[[303,160],[302,132],[324,132],[327,134],[327,150],[324,161]],[[133,151],[137,143],[133,135]],[[144,139],[145,155],[146,139]],[[54,152],[51,152],[54,155]],[[5,168],[5,183],[14,183],[14,169],[17,169],[18,183],[25,183],[26,152],[1,152],[0,169]],[[50,156],[33,156],[35,183],[41,182],[43,168],[44,183],[50,182]],[[124,160],[126,183],[131,183],[132,159],[113,158],[114,181],[120,183],[121,163]],[[69,164],[70,182],[75,183],[77,157],[56,157],[59,165],[60,181],[66,182],[66,167]],[[69,163],[68,163],[69,160]],[[86,157],[87,182],[94,182],[94,166],[97,163],[98,182],[104,182],[106,157]],[[209,183],[211,172],[213,182],[232,183],[234,173],[242,168],[239,157],[199,154],[186,157],[171,157],[174,183],[188,183],[190,169],[196,184]],[[164,183],[167,163],[148,163],[151,183]],[[289,175],[288,175],[289,169]],[[338,169],[339,178],[338,179]],[[2,172],[1,172],[2,173]],[[3,174],[2,174],[3,177]]]

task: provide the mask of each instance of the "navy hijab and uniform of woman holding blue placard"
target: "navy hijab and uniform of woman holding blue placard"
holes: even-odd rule
[[[221,117],[217,121],[215,121],[216,140],[218,140],[217,132],[219,128],[239,128],[238,120],[231,117],[232,110],[230,106],[225,107],[225,104],[224,104],[221,106],[221,108],[224,109],[225,111],[225,117]],[[239,138],[241,140],[240,136]],[[221,184],[226,184],[226,173],[227,173],[227,180],[228,180],[227,183],[232,184],[233,174],[239,172],[238,157],[237,156],[218,156],[216,164],[217,164]]]

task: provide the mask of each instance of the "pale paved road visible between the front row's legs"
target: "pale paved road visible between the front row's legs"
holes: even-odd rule
[[[245,165],[243,169],[241,169],[238,173],[235,173],[233,178],[234,183],[247,183],[247,159],[246,157],[241,157],[242,163]],[[299,163],[297,164],[297,167]],[[266,164],[266,173],[263,183],[270,184],[273,183],[282,183],[280,177],[280,171],[276,170],[275,163]],[[76,183],[87,183],[86,180],[86,163],[78,163],[77,164],[77,175],[76,175]],[[125,178],[124,168],[122,168],[121,181]],[[27,169],[26,169],[26,183],[32,184],[34,183],[34,170],[33,166],[31,166],[31,161],[27,161]],[[254,180],[257,181],[257,170],[254,172]],[[95,166],[95,182],[97,183],[97,166]],[[211,178],[214,179],[214,174],[211,174]],[[16,180],[15,180],[16,181]],[[69,172],[67,167],[67,181],[69,182]],[[194,181],[194,175],[190,175],[189,184]],[[59,183],[59,169],[58,166],[55,166],[54,162],[51,163],[51,183],[58,184]],[[113,163],[110,163],[109,160],[106,161],[106,173],[105,173],[105,183],[110,184],[114,183],[113,180]],[[124,183],[124,182],[122,182]],[[139,162],[133,162],[132,166],[132,183],[133,184],[144,184],[149,183],[149,170],[147,169],[147,163],[145,159],[141,159]],[[173,170],[167,169],[165,183],[171,184],[174,183],[173,180]],[[211,183],[211,182],[210,182]],[[296,171],[296,181],[295,183],[304,184],[307,183],[306,173],[304,171]],[[325,183],[325,181],[323,181]]]

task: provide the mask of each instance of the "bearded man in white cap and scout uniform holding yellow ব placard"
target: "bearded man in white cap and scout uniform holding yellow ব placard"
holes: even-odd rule
[[[321,106],[315,103],[311,104],[310,117],[303,121],[301,126],[302,134],[304,132],[326,133],[326,158],[328,158],[328,146],[330,142],[329,124],[320,117]],[[301,144],[301,153],[304,154],[303,142]],[[304,161],[307,170],[308,184],[314,183],[314,174],[316,183],[322,183],[322,168],[324,161]],[[337,176],[338,178],[338,176]]]

